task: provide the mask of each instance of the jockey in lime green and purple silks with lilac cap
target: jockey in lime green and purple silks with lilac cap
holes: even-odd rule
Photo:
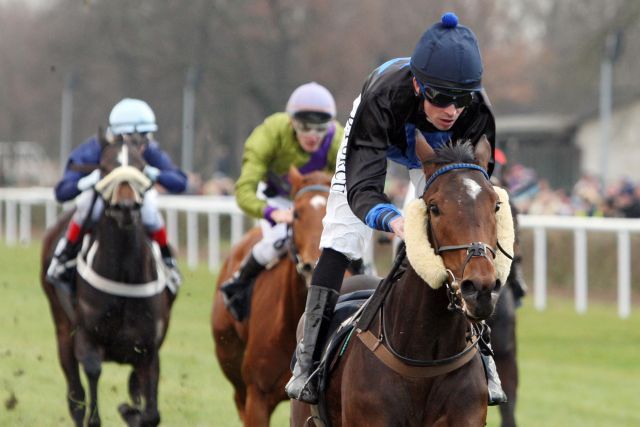
[[[293,91],[286,112],[267,117],[245,143],[236,201],[245,214],[261,218],[262,240],[220,287],[225,306],[237,320],[247,315],[253,280],[287,252],[287,225],[293,221],[287,182],[290,166],[303,174],[334,172],[344,132],[335,117],[329,90],[307,83]],[[262,188],[261,183],[266,186]]]

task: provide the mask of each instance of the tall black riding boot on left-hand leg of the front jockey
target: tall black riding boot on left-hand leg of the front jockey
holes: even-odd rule
[[[293,377],[285,386],[290,398],[307,403],[318,403],[318,384],[311,374],[316,369],[324,334],[331,323],[333,309],[340,294],[330,288],[311,286],[304,311],[304,335],[296,347],[296,366]]]

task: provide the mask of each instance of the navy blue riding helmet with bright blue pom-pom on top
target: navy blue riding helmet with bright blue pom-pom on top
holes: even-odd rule
[[[482,88],[482,57],[473,32],[458,25],[458,17],[442,15],[420,37],[413,55],[411,71],[419,83],[451,95]]]

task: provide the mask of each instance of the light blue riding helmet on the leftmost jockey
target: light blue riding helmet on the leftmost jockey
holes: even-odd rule
[[[155,132],[158,130],[156,115],[146,102],[124,98],[109,114],[109,130],[113,135]]]

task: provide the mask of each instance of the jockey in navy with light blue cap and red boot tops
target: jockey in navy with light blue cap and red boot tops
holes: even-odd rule
[[[170,193],[182,193],[187,188],[187,176],[174,166],[168,154],[162,151],[154,140],[153,132],[157,130],[155,114],[145,101],[124,98],[109,114],[107,141],[134,143],[147,163],[143,173]],[[100,163],[101,153],[98,136],[88,138],[71,152],[62,179],[55,187],[58,202],[66,202],[77,197],[76,210],[64,237],[56,246],[47,269],[47,280],[66,291],[62,295],[70,301],[75,298],[73,277],[82,235],[91,230],[104,209],[103,200],[95,197],[94,191],[94,185],[100,180],[100,169],[97,165]],[[142,222],[150,237],[160,246],[163,261],[169,270],[169,288],[177,290],[181,276],[167,242],[167,230],[157,207],[157,195],[154,188],[144,194],[141,207]]]

